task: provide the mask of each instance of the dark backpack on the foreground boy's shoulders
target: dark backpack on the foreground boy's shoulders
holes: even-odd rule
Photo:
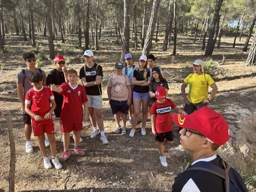
[[[240,174],[238,174],[238,172],[230,167],[224,160],[222,160],[222,165],[225,169],[222,169],[213,163],[197,162],[187,168],[186,171],[202,170],[211,172],[212,174],[215,174],[216,176],[219,176],[225,180],[224,185],[227,192],[247,192],[248,190]]]

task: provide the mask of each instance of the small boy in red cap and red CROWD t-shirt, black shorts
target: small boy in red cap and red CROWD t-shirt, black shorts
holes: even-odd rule
[[[171,110],[173,109],[176,113],[184,115],[187,115],[187,113],[176,107],[171,99],[166,99],[166,89],[164,87],[157,87],[155,97],[157,101],[154,102],[150,110],[152,133],[157,141],[161,165],[168,166],[163,148],[165,145],[173,143]]]

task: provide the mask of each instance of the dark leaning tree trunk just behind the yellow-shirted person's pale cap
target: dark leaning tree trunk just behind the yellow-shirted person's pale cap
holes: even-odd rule
[[[213,54],[213,49],[214,49],[214,46],[215,46],[215,42],[214,42],[213,38],[214,38],[214,35],[215,35],[216,24],[218,23],[218,20],[220,18],[219,11],[221,10],[222,2],[223,2],[223,0],[216,0],[215,13],[214,13],[214,16],[213,16],[213,21],[212,21],[212,29],[210,29],[210,33],[209,33],[207,47],[206,47],[206,50],[205,50],[204,57],[210,57]]]

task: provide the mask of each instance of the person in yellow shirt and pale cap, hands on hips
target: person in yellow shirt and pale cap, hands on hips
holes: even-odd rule
[[[209,74],[204,73],[202,60],[195,60],[193,63],[194,73],[189,74],[182,84],[182,97],[185,102],[184,111],[189,115],[208,103],[215,97],[218,87]],[[188,97],[186,96],[185,87],[189,85]],[[208,96],[208,87],[212,92]]]

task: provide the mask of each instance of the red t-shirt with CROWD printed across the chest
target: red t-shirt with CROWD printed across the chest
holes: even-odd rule
[[[171,99],[165,99],[165,102],[163,102],[162,104],[157,101],[154,102],[151,107],[150,113],[156,114],[155,130],[157,131],[157,133],[165,133],[172,130],[171,109],[175,107],[176,105],[173,101],[171,101]]]

